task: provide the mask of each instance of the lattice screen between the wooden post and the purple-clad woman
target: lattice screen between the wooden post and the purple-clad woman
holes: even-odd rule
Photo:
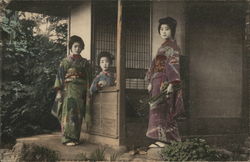
[[[145,89],[144,77],[151,62],[149,3],[125,3],[124,17],[126,88]]]

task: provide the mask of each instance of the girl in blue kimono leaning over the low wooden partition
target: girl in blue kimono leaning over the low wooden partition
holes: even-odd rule
[[[101,72],[95,77],[90,87],[90,95],[92,96],[98,90],[104,87],[115,85],[115,78],[110,72],[110,65],[112,64],[112,55],[109,52],[101,52],[98,55],[98,65]]]

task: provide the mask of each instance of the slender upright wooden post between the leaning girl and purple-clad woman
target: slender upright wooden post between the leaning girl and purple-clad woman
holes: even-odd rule
[[[117,89],[118,93],[118,138],[119,145],[124,144],[125,139],[125,57],[122,52],[122,0],[118,0],[117,7]]]

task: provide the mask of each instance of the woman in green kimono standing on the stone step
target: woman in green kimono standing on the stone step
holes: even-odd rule
[[[84,42],[78,36],[70,37],[70,54],[64,58],[56,75],[54,88],[57,90],[52,113],[61,123],[62,143],[74,146],[79,143],[83,117],[90,123],[89,85],[91,73],[89,62],[80,53]]]

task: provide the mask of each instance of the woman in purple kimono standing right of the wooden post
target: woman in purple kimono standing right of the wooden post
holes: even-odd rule
[[[146,136],[156,140],[149,147],[164,147],[170,141],[181,141],[176,117],[183,112],[182,91],[175,87],[181,84],[180,48],[174,39],[177,22],[171,17],[159,20],[158,32],[164,40],[151,63],[146,78],[148,91],[155,101],[150,104]],[[157,98],[166,92],[163,97]]]

